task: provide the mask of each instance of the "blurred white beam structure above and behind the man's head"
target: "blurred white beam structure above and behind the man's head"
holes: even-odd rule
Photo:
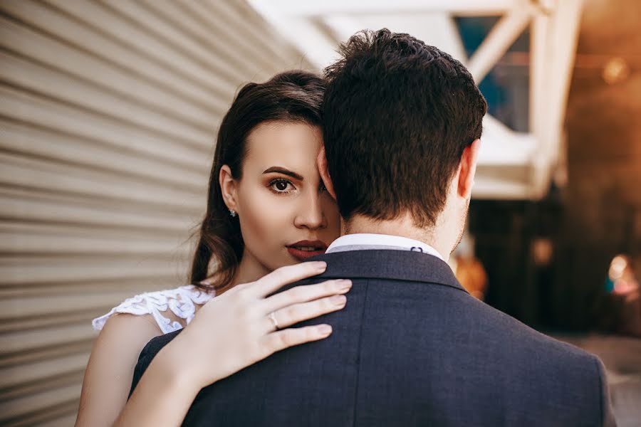
[[[319,69],[363,28],[410,33],[464,63],[476,83],[530,28],[529,129],[484,119],[477,199],[541,199],[565,170],[563,117],[583,0],[249,0],[276,31]],[[501,16],[470,58],[455,16]]]

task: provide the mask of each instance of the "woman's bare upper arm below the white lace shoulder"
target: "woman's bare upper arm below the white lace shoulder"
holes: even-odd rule
[[[111,426],[127,402],[138,355],[162,334],[150,315],[110,317],[96,339],[85,370],[75,426]]]

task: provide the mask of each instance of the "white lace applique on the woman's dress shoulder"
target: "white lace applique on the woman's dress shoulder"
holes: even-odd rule
[[[152,315],[163,334],[182,329],[180,322],[171,321],[161,312],[167,309],[177,317],[185,320],[189,325],[196,314],[196,305],[203,305],[214,297],[194,285],[181,286],[180,288],[145,292],[135,297],[127,298],[120,305],[113,307],[106,315],[95,318],[91,324],[93,329],[102,330],[109,317],[115,313],[128,313],[131,315]]]

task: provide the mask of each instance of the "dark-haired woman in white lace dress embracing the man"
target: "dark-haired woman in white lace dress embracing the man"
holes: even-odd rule
[[[94,321],[102,330],[76,426],[177,425],[202,387],[329,336],[329,325],[281,328],[345,307],[349,280],[271,295],[321,273],[324,263],[296,264],[338,237],[338,210],[316,169],[323,90],[303,71],[240,90],[219,129],[192,285],[139,295]],[[182,327],[127,401],[142,348]]]

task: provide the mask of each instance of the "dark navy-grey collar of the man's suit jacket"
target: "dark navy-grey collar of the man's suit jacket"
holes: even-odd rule
[[[325,253],[310,260],[327,262],[325,273],[316,278],[407,280],[434,283],[467,292],[444,260],[427,253],[393,250],[344,251]]]

